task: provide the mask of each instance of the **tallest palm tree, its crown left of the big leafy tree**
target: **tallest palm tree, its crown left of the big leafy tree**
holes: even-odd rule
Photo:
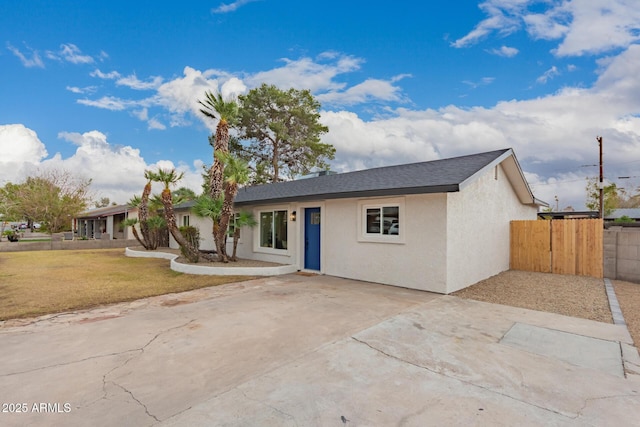
[[[218,152],[229,152],[229,127],[234,126],[238,121],[238,104],[235,101],[225,101],[222,95],[214,95],[212,92],[205,92],[205,100],[198,103],[203,108],[200,112],[206,117],[218,120],[216,126],[216,136],[213,145],[213,165],[209,171],[209,188],[211,198],[215,199],[222,194],[224,180],[224,166],[215,157]]]

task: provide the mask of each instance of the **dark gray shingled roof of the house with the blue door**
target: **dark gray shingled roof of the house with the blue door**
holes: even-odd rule
[[[454,192],[507,151],[510,149],[245,187],[235,204]]]

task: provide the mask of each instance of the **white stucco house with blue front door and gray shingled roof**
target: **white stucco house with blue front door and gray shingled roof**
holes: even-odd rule
[[[238,256],[448,294],[507,270],[510,221],[542,204],[511,149],[246,187]]]

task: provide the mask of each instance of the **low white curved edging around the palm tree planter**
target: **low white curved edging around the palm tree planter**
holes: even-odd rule
[[[298,267],[295,265],[278,265],[276,267],[210,267],[197,264],[183,264],[176,261],[176,258],[178,258],[176,254],[136,251],[131,248],[125,249],[125,255],[137,258],[168,259],[170,260],[170,267],[173,271],[186,274],[209,276],[278,276],[298,271]]]

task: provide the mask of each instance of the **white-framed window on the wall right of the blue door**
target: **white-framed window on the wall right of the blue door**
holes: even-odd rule
[[[404,198],[363,200],[358,211],[359,241],[404,243]]]

